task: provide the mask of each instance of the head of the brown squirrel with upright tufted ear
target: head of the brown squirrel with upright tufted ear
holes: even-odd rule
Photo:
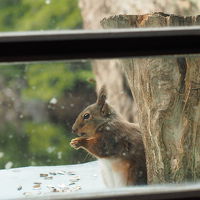
[[[79,136],[90,137],[105,122],[116,117],[115,111],[106,102],[105,86],[99,91],[96,103],[85,108],[77,117],[72,131]]]

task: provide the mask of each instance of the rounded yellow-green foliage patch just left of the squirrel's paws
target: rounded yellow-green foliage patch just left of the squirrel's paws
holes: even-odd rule
[[[66,130],[62,126],[30,121],[23,125],[29,138],[27,151],[34,156],[35,164],[42,165],[44,160],[51,165],[69,162],[70,137],[66,136]]]

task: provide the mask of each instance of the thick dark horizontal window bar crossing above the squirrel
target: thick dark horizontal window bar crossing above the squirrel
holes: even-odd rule
[[[200,28],[1,33],[0,47],[0,62],[198,54]]]

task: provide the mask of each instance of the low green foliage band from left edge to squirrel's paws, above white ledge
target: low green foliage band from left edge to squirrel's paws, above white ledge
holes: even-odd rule
[[[21,127],[6,123],[0,127],[0,168],[72,163],[71,136],[52,122],[23,122]],[[75,161],[76,162],[76,161]]]

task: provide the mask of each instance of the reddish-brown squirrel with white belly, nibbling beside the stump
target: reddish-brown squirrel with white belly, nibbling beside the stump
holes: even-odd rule
[[[103,181],[108,187],[147,183],[142,134],[134,123],[125,121],[107,102],[105,86],[96,103],[77,117],[72,132],[74,149],[85,149],[100,162]]]

